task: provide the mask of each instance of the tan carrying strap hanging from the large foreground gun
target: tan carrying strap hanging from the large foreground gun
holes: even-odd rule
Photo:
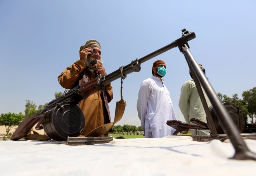
[[[125,112],[125,106],[126,102],[123,100],[123,78],[121,78],[121,100],[119,102],[116,102],[114,122],[97,127],[96,129],[88,133],[85,137],[99,137],[100,135],[106,134],[113,127],[113,125],[116,124],[116,122],[121,120]]]

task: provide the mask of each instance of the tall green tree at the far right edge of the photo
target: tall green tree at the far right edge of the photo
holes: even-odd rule
[[[253,123],[253,118],[256,117],[256,87],[244,91],[242,93],[243,100],[247,105],[247,110],[249,117],[251,118],[251,123]]]

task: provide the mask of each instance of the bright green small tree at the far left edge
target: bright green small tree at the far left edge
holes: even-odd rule
[[[24,118],[21,114],[10,112],[5,114],[2,113],[0,115],[0,125],[5,126],[6,136],[14,126],[21,124],[23,119]]]

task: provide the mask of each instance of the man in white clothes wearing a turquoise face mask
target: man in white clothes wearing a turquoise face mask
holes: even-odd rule
[[[162,80],[165,74],[164,61],[155,61],[152,67],[152,78],[144,80],[140,85],[137,110],[145,138],[164,137],[173,135],[175,132],[175,129],[166,124],[168,120],[176,120],[176,116],[170,92]]]

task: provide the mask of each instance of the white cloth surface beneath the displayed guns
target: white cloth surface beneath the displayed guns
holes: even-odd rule
[[[256,153],[256,140],[245,140]],[[67,146],[54,141],[0,141],[1,176],[253,176],[256,161],[228,159],[231,143],[192,137],[114,139]]]

